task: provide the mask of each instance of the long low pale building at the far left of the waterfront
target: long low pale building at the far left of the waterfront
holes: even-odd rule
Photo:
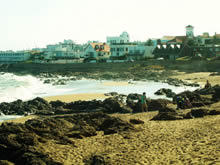
[[[30,53],[25,51],[2,51],[0,52],[0,62],[21,62],[30,59]]]

